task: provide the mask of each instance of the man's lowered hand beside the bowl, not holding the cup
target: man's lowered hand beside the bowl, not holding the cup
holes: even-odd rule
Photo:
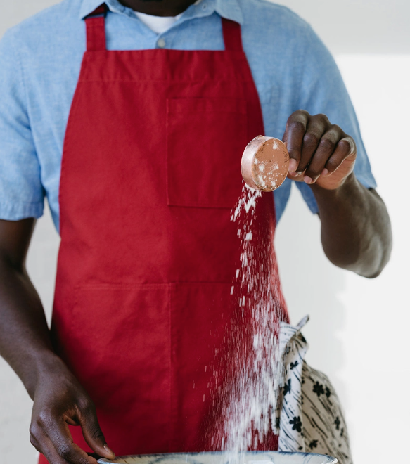
[[[72,442],[68,424],[82,428],[85,441],[96,454],[115,458],[105,443],[94,404],[61,361],[52,373],[41,375],[36,388],[30,442],[50,464],[96,464],[95,458]]]

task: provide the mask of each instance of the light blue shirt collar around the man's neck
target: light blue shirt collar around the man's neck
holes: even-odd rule
[[[105,3],[110,11],[113,11],[113,13],[134,15],[132,10],[120,4],[117,0],[106,0]],[[79,18],[84,19],[100,5],[101,0],[82,0]],[[212,15],[214,11],[222,16],[222,18],[243,24],[243,14],[238,4],[238,0],[201,0],[200,2],[196,2],[196,4],[191,5],[184,12],[184,17],[185,19],[201,18],[203,16]]]

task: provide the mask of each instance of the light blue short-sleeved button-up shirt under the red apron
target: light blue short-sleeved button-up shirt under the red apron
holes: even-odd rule
[[[84,16],[101,0],[63,0],[6,32],[0,41],[0,219],[40,217],[46,196],[58,230],[65,127],[82,55]],[[281,138],[292,112],[324,113],[357,143],[357,178],[376,187],[352,103],[331,54],[295,13],[264,0],[202,0],[159,36],[132,10],[107,0],[108,50],[222,50],[221,16],[242,26],[265,134]],[[239,160],[238,160],[239,162]],[[277,219],[293,181],[274,193]],[[297,183],[312,212],[309,186]]]

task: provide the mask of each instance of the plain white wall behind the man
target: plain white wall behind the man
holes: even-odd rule
[[[0,36],[53,0],[0,0]],[[406,462],[410,434],[408,297],[410,2],[283,0],[314,26],[336,54],[357,109],[378,191],[392,217],[395,250],[378,279],[341,271],[324,257],[320,224],[294,190],[276,248],[290,316],[305,314],[308,361],[342,397],[356,464]],[[50,315],[58,236],[49,214],[38,224],[28,268]],[[297,266],[295,265],[297,263]],[[31,401],[0,360],[0,458],[35,462],[28,441]],[[404,459],[404,460],[402,460]],[[407,458],[408,459],[408,458]]]

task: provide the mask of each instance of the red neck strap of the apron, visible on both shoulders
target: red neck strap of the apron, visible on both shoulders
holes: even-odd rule
[[[87,27],[87,51],[104,51],[107,49],[105,40],[105,16],[107,6],[102,4],[85,17]],[[241,25],[238,22],[222,18],[222,31],[226,51],[243,51]]]

